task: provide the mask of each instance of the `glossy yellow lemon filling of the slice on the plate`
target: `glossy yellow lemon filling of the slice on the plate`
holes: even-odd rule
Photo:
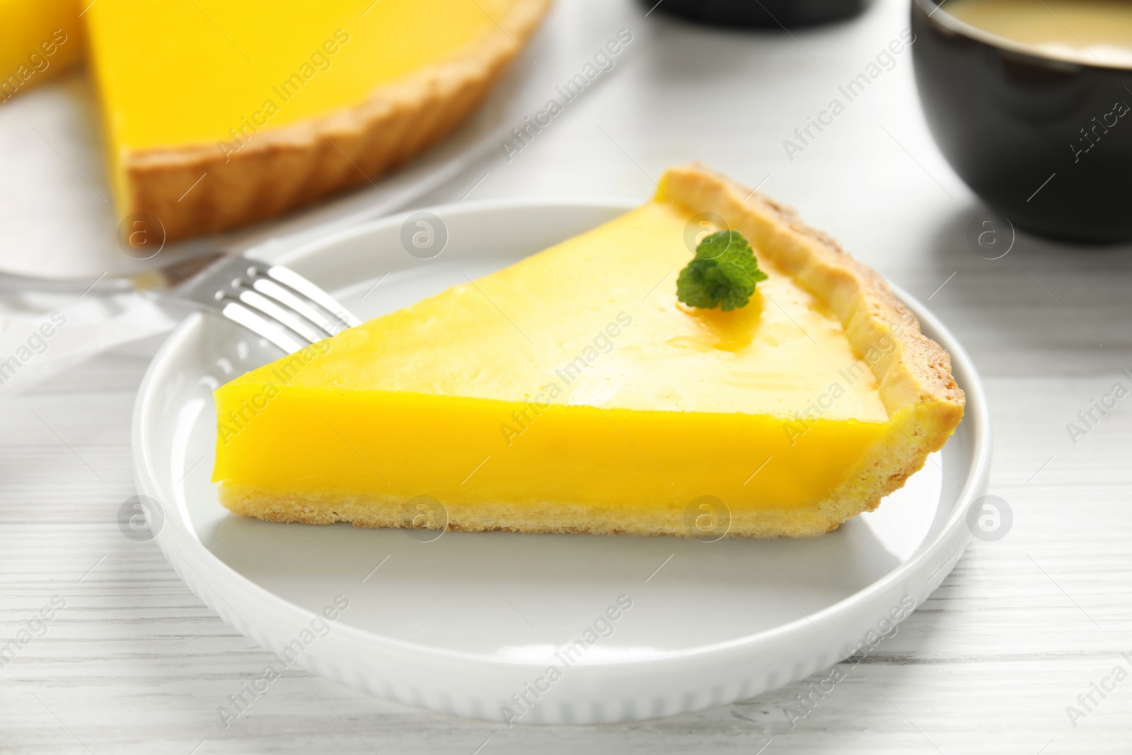
[[[765,263],[743,309],[680,304],[692,215],[654,200],[237,378],[215,394],[214,480],[446,505],[825,499],[895,431],[877,355]]]

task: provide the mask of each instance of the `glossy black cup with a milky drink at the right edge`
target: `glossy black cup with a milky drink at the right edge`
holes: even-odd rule
[[[947,162],[1032,233],[1132,239],[1132,68],[1045,55],[911,0],[920,103]]]

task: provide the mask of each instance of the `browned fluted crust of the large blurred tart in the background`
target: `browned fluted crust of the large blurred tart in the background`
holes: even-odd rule
[[[267,128],[239,152],[215,143],[119,156],[119,213],[157,217],[166,241],[280,215],[365,183],[439,140],[479,105],[550,0],[518,0],[498,28],[451,59],[323,118]],[[208,179],[194,186],[203,173]]]

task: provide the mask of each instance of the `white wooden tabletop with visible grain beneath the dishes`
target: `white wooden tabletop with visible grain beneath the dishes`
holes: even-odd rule
[[[666,165],[694,158],[761,185],[929,300],[966,343],[990,397],[990,491],[1013,509],[1009,534],[974,541],[899,634],[794,728],[783,707],[805,683],[636,728],[508,731],[292,670],[225,729],[217,706],[267,653],[115,522],[134,492],[134,396],[158,345],[135,343],[28,393],[0,391],[0,644],[66,601],[0,668],[0,752],[1130,752],[1132,679],[1092,693],[1089,711],[1078,696],[1117,664],[1132,674],[1132,398],[1075,444],[1066,423],[1114,383],[1132,388],[1121,372],[1132,369],[1132,248],[1019,235],[1002,259],[976,256],[964,235],[980,206],[931,140],[907,51],[788,158],[783,139],[907,26],[907,0],[792,36],[645,10],[634,32],[646,44],[602,87],[509,162],[500,149],[427,203],[643,198]],[[1071,721],[1070,705],[1086,715]]]

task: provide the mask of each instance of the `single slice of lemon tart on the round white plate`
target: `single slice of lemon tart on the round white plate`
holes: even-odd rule
[[[685,303],[703,217],[761,276],[731,306]],[[695,534],[701,500],[729,535],[820,534],[901,487],[963,415],[947,354],[876,273],[697,165],[215,400],[213,477],[238,514],[437,526],[417,516],[426,497],[453,530],[607,534]]]

